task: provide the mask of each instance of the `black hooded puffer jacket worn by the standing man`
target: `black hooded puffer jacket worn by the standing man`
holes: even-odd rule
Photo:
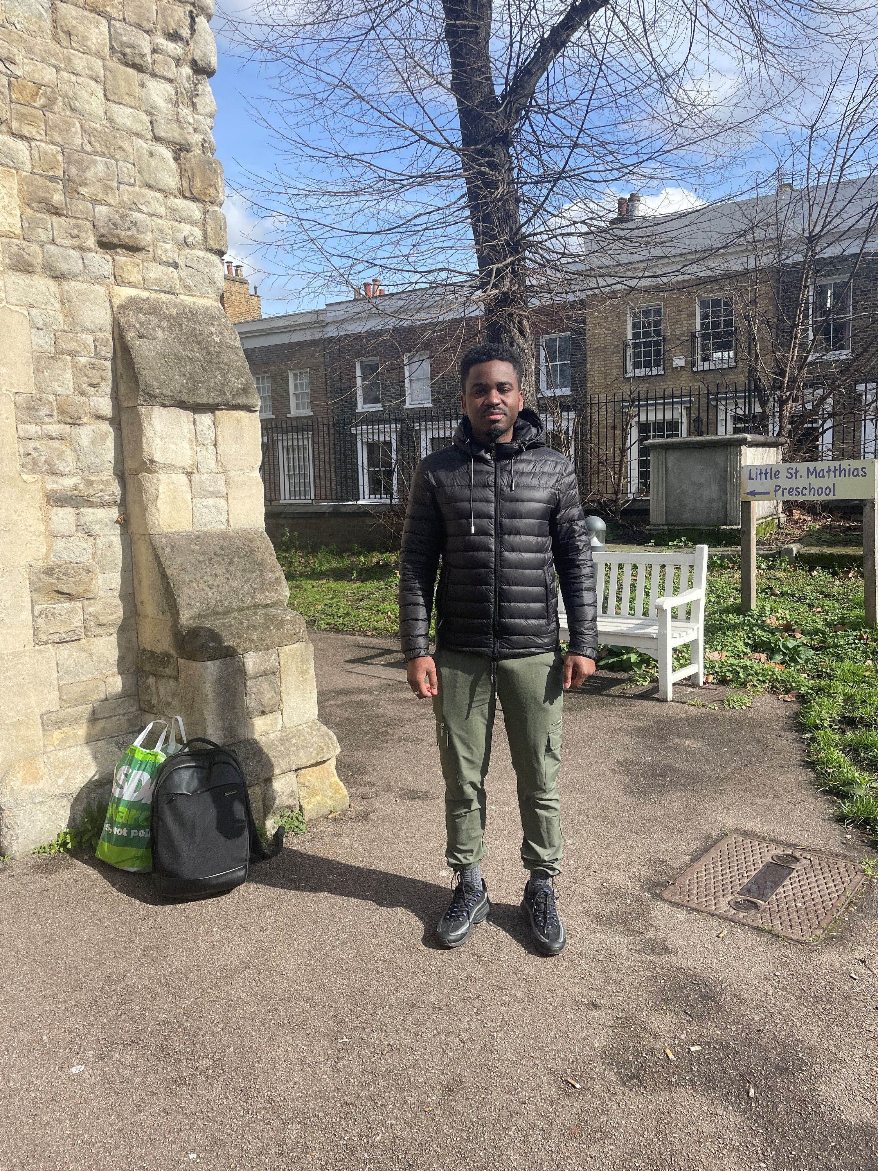
[[[597,657],[595,570],[574,470],[523,410],[513,441],[483,447],[469,420],[421,460],[405,514],[399,625],[406,659],[428,655],[435,571],[437,641],[488,658],[558,644],[561,581],[570,650]],[[553,568],[553,560],[555,568]]]

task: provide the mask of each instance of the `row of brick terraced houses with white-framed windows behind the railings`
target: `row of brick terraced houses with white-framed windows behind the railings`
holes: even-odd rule
[[[843,395],[859,395],[845,406],[853,427],[823,419],[811,441],[830,454],[874,446],[874,386],[862,369],[873,363],[878,267],[863,225],[878,184],[842,187],[804,294],[810,204],[787,189],[653,217],[632,196],[583,234],[565,299],[534,323],[540,413],[585,494],[645,498],[650,438],[770,430],[757,389],[774,376],[766,355],[783,358],[796,295],[808,297],[809,381],[822,405],[838,413]],[[377,281],[324,309],[241,322],[263,403],[268,504],[404,495],[412,460],[453,432],[457,365],[480,327],[478,307],[453,289],[395,294]],[[844,371],[851,386],[832,395]]]

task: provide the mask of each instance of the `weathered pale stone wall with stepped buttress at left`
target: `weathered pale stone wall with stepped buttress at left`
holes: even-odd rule
[[[258,815],[347,804],[219,306],[212,8],[0,7],[0,854],[176,712],[236,745]]]

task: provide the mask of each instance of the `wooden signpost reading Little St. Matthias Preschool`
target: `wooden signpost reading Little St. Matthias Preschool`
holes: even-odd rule
[[[746,464],[741,468],[741,614],[756,604],[756,501],[831,504],[863,501],[865,623],[878,625],[876,583],[876,460],[828,459],[816,464]]]

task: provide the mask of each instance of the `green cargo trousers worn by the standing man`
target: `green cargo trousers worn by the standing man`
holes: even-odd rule
[[[519,781],[521,861],[526,870],[561,874],[561,651],[496,664],[437,648],[438,694],[433,699],[437,742],[445,778],[445,856],[454,870],[474,867],[485,849],[485,778],[491,763],[496,697],[503,710],[513,768]]]

